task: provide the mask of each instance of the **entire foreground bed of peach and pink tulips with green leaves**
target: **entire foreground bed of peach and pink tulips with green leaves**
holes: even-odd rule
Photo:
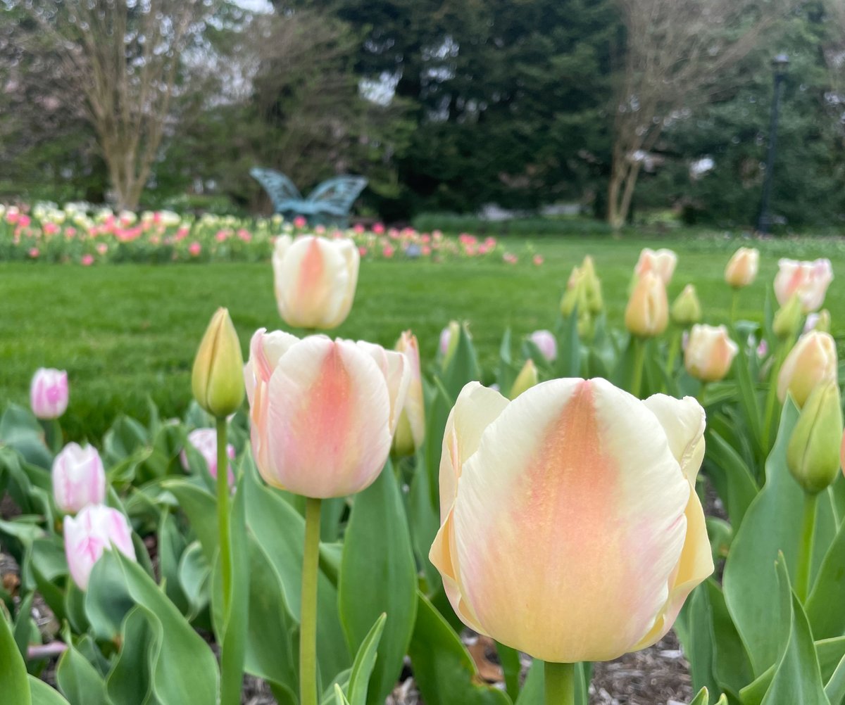
[[[151,407],[99,449],[65,444],[57,370],[6,409],[13,702],[236,705],[246,673],[280,703],[380,705],[410,673],[428,705],[588,705],[593,662],[674,629],[695,705],[845,703],[829,261],[782,260],[760,325],[708,321],[692,284],[670,305],[677,258],[646,249],[613,325],[586,257],[558,321],[505,331],[482,375],[466,323],[433,361],[410,330],[395,350],[318,334],[354,306],[360,258],[281,236],[279,313],[313,333],[260,328],[244,364],[218,310],[183,420]],[[732,311],[758,265],[726,263]],[[57,652],[55,691],[36,676]]]

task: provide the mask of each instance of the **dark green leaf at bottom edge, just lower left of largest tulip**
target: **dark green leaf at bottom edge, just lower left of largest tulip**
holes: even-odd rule
[[[414,678],[426,705],[510,705],[504,692],[478,682],[475,664],[460,637],[425,595],[417,597],[410,652]]]

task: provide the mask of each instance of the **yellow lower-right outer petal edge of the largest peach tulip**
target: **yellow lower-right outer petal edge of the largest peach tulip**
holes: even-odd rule
[[[695,493],[695,485],[690,483],[690,501],[684,512],[687,520],[686,540],[684,549],[678,562],[678,568],[673,579],[669,582],[669,596],[661,614],[654,621],[646,636],[642,637],[631,651],[646,648],[657,643],[666,636],[684,600],[692,592],[693,588],[702,583],[713,572],[713,556],[710,549],[710,539],[707,537],[707,527],[704,518],[704,509],[701,508],[701,501]]]

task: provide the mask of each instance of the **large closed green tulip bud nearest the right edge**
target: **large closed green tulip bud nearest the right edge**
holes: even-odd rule
[[[842,401],[837,382],[821,384],[801,409],[787,446],[789,472],[815,495],[836,480],[842,442]]]

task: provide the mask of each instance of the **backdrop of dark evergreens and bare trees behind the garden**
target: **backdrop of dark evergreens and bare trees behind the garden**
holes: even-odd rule
[[[260,164],[304,190],[363,173],[364,208],[386,220],[577,202],[616,225],[648,209],[752,225],[771,57],[788,52],[774,215],[793,226],[842,222],[842,0],[273,3],[270,14],[203,4],[181,50],[159,38],[173,47],[174,73],[166,105],[139,108],[155,126],[155,140],[135,144],[141,206],[266,209],[248,176]],[[134,205],[118,187],[116,163],[128,158],[115,158],[91,119],[96,94],[74,89],[85,84],[68,53],[31,15],[51,4],[79,3],[0,0],[0,196],[111,194]],[[106,5],[114,13],[126,0]],[[63,30],[58,20],[52,28]],[[133,51],[100,53],[119,64]]]

